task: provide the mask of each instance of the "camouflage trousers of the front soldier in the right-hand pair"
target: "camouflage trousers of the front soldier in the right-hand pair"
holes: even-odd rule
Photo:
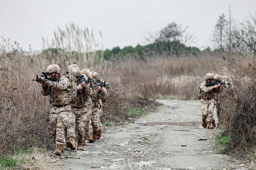
[[[213,111],[215,106],[214,104],[215,104],[214,99],[212,100],[201,99],[202,121],[206,121],[210,123],[214,121],[213,119]]]

